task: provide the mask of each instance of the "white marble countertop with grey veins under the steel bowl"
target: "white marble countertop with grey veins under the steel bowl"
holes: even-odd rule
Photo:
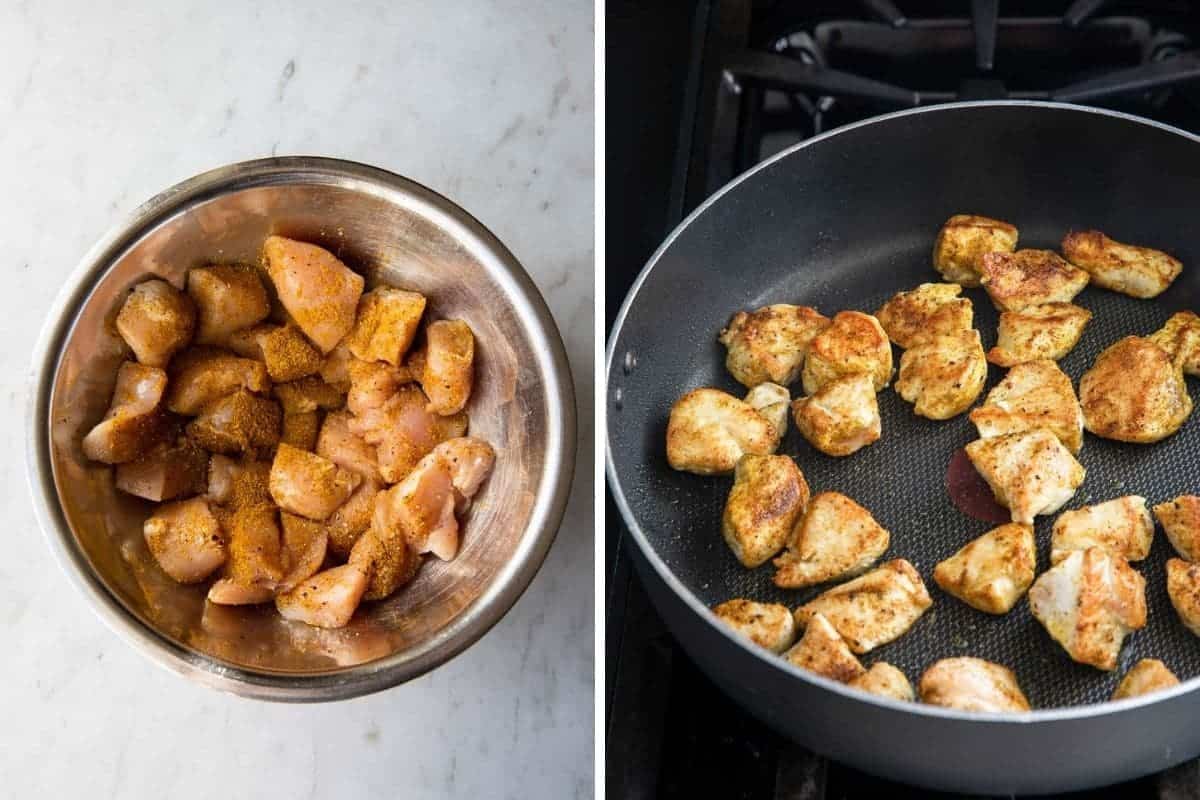
[[[593,782],[593,6],[125,4],[0,8],[0,794],[571,798]],[[50,300],[167,186],[270,154],[364,161],[463,205],[566,339],[580,463],[550,558],[479,644],[400,688],[287,706],[154,667],[71,589],[24,465]],[[11,794],[10,794],[11,793]]]

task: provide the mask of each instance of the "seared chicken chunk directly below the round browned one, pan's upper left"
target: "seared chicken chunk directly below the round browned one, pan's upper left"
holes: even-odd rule
[[[827,456],[850,456],[883,432],[875,383],[858,372],[830,380],[792,403],[792,419],[809,444]]]

